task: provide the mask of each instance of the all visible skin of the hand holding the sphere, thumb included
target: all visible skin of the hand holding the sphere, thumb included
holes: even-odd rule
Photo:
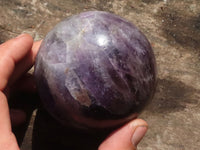
[[[40,44],[41,41],[34,42],[30,35],[23,34],[0,45],[1,150],[20,149],[12,132],[12,126],[22,124],[26,120],[26,114],[22,110],[9,110],[8,97],[10,91],[15,88],[34,90],[34,82],[31,80],[32,78],[27,78],[26,73],[34,64]],[[20,80],[21,78],[23,81]],[[136,131],[138,127],[142,128]],[[99,150],[136,150],[137,144],[147,131],[147,127],[148,124],[144,120],[132,120],[111,133],[99,146]],[[134,133],[136,136],[133,138]]]

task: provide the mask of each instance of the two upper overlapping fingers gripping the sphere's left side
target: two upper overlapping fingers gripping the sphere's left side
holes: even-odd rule
[[[22,34],[0,45],[0,90],[13,84],[34,64],[41,41],[33,43],[33,38]],[[13,74],[11,76],[11,74]]]

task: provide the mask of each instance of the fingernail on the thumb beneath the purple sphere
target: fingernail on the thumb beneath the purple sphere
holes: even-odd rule
[[[132,135],[132,144],[137,147],[138,143],[142,140],[144,135],[147,132],[147,127],[146,126],[139,126],[135,129],[135,132]]]

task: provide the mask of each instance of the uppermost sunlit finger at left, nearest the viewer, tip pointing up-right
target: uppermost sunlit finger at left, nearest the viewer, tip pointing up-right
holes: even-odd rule
[[[6,87],[15,65],[27,55],[32,45],[33,38],[27,34],[0,45],[0,90]]]

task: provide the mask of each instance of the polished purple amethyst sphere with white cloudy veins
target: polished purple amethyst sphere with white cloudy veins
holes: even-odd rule
[[[41,44],[34,74],[46,110],[78,128],[126,123],[152,99],[156,86],[146,37],[132,23],[102,11],[56,25]]]

